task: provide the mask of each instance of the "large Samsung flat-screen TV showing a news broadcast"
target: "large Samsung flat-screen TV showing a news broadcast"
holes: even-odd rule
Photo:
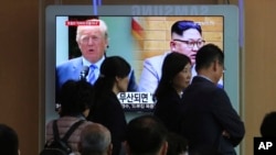
[[[55,67],[79,56],[75,41],[76,25],[97,18],[108,26],[107,56],[119,55],[134,68],[137,84],[144,59],[170,49],[170,26],[178,20],[192,20],[202,26],[206,43],[225,53],[222,84],[238,111],[238,11],[235,5],[102,5],[97,14],[92,5],[49,5],[45,12],[45,121],[56,118]],[[142,33],[141,33],[142,32]],[[139,96],[139,100],[134,98]],[[127,95],[124,95],[127,96]],[[148,93],[129,93],[123,107],[130,111],[151,110]],[[123,96],[120,96],[123,97]]]

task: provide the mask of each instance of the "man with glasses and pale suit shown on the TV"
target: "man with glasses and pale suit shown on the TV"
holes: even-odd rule
[[[201,25],[193,21],[177,21],[171,26],[170,51],[187,55],[194,66],[195,55],[205,41],[202,37]],[[170,52],[163,55],[153,56],[145,59],[144,68],[139,81],[139,91],[153,93],[161,79],[161,67],[164,57]],[[197,75],[194,67],[192,76]]]

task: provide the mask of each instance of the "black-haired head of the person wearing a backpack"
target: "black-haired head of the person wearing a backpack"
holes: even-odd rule
[[[79,115],[94,101],[94,88],[85,80],[67,80],[61,88],[61,117]]]

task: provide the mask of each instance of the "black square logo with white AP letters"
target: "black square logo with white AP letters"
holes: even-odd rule
[[[254,137],[254,155],[276,155],[276,137]]]

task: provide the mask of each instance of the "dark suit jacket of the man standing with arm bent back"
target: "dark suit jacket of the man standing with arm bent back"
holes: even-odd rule
[[[233,155],[245,134],[244,123],[226,92],[201,76],[194,77],[184,91],[181,125],[191,152],[214,150]],[[223,131],[230,136],[223,136]]]

